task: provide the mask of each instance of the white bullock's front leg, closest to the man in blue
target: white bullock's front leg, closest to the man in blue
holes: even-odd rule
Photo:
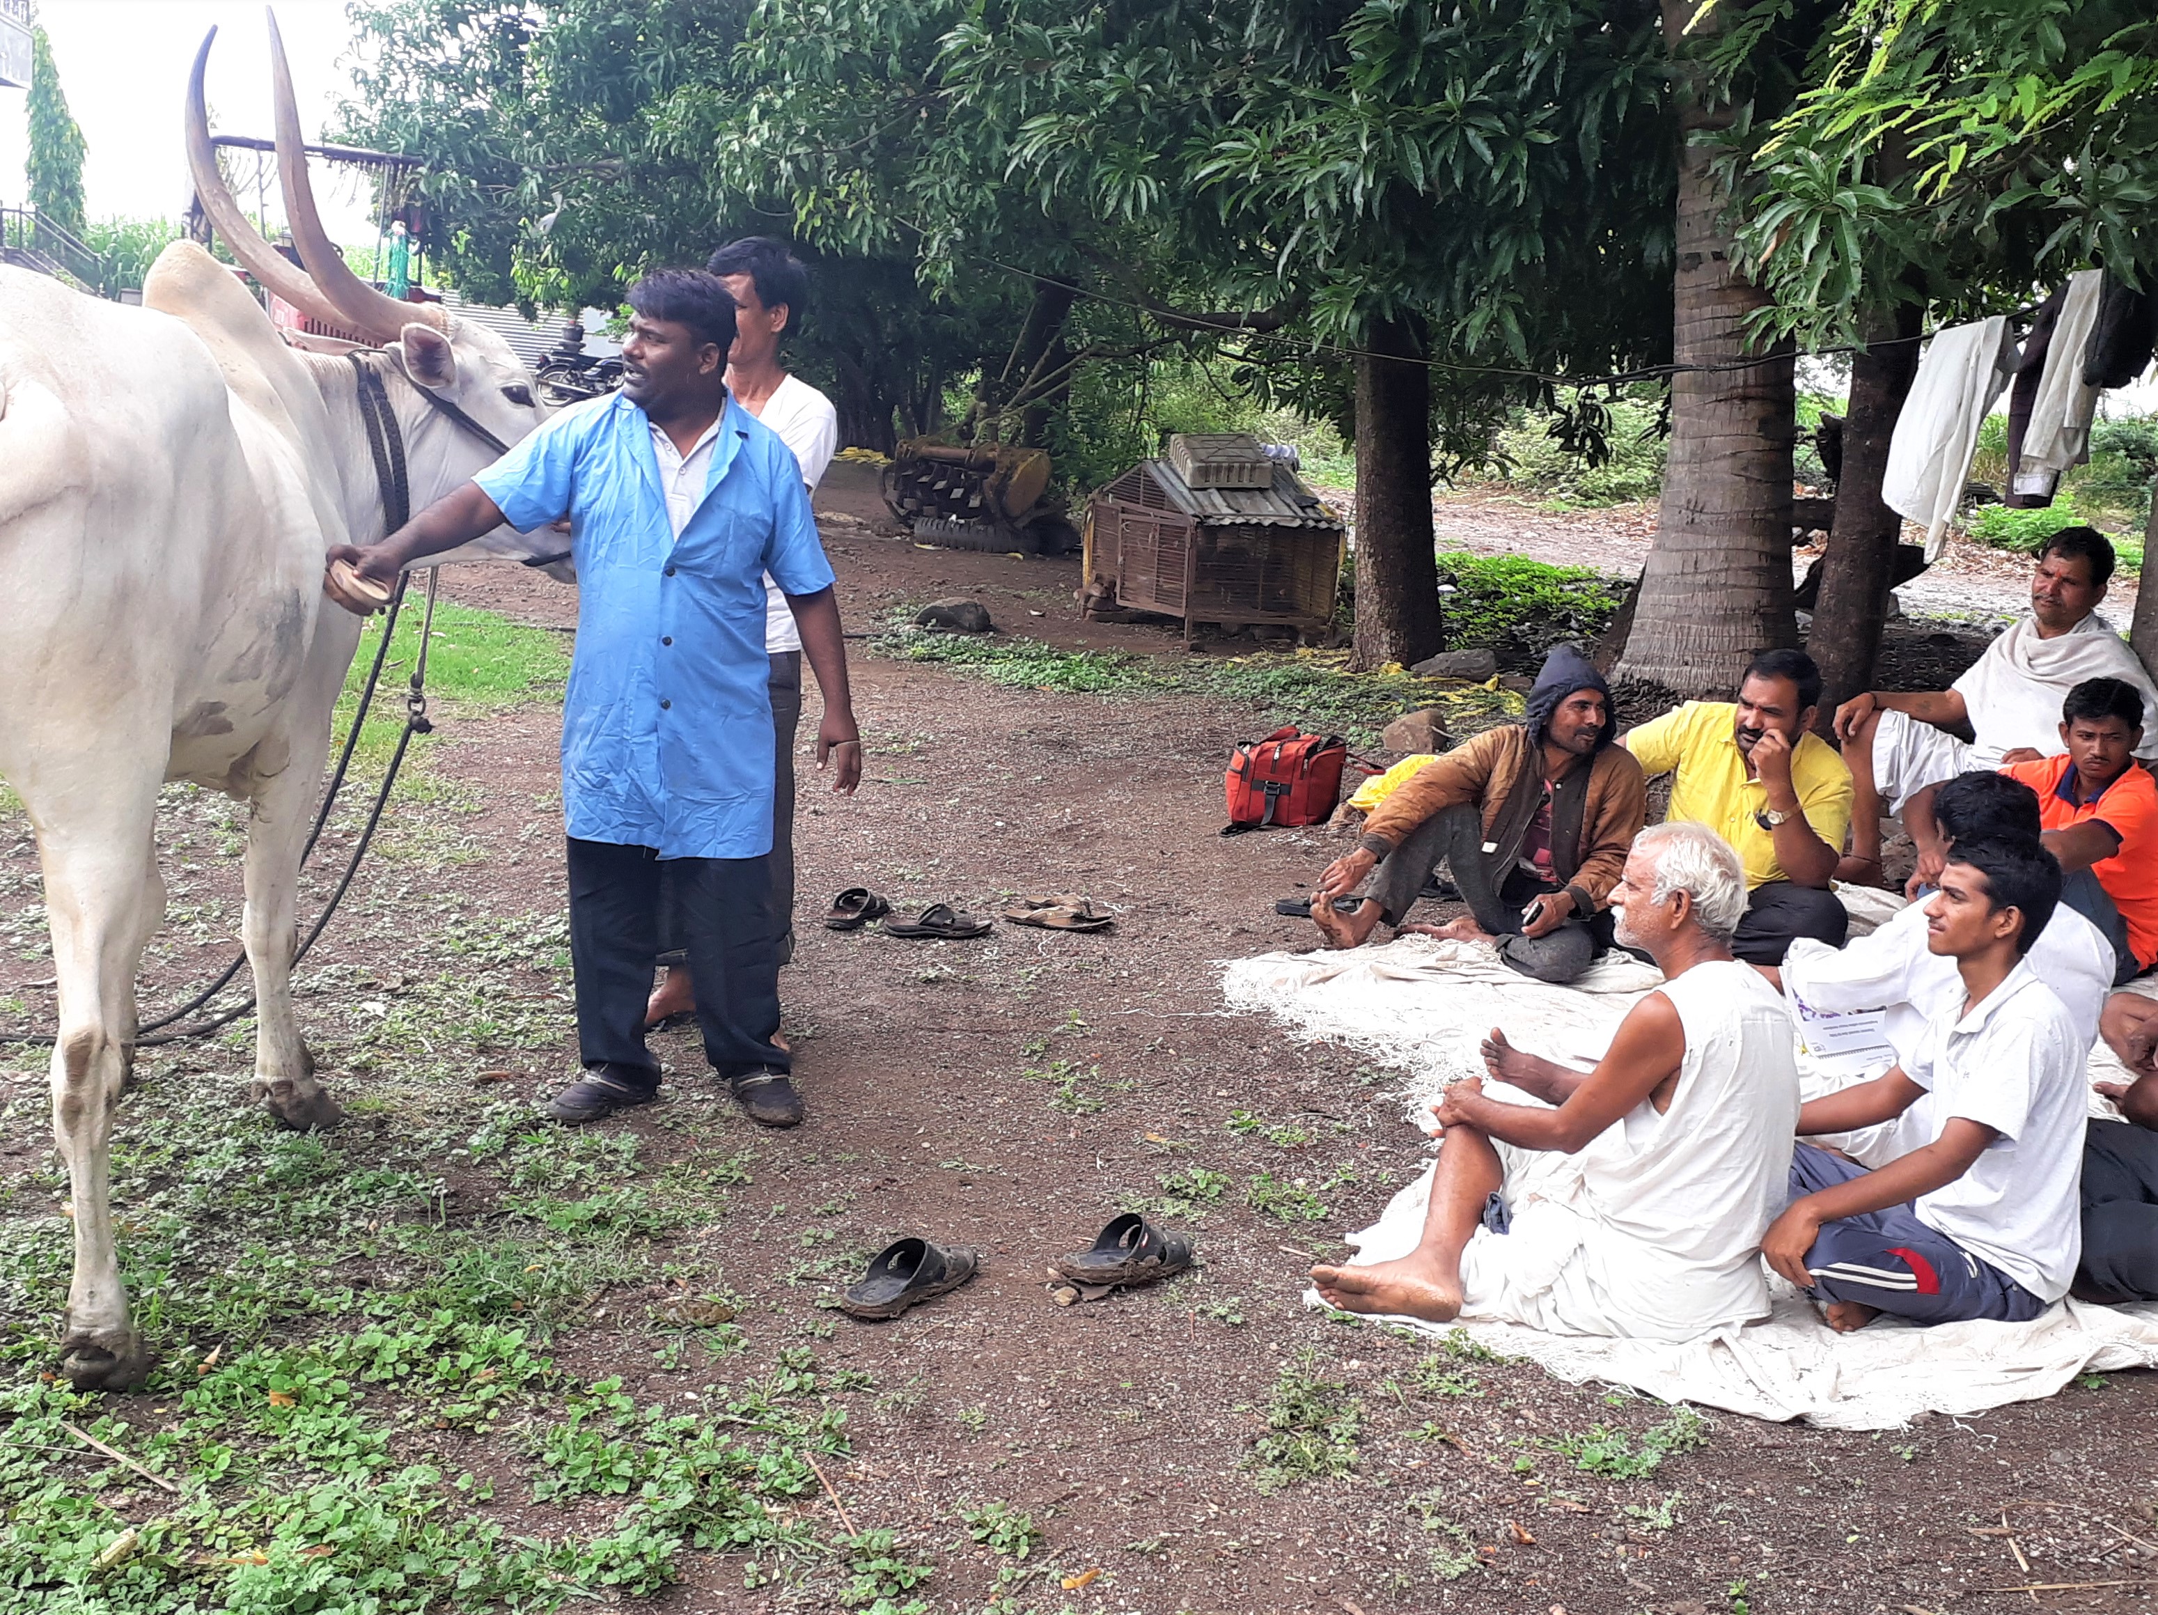
[[[315,1080],[315,1058],[291,1008],[300,846],[306,844],[319,777],[322,747],[315,747],[311,758],[289,756],[274,777],[257,782],[248,816],[248,905],[240,928],[255,972],[252,1092],[272,1116],[300,1131],[337,1127],[345,1118],[330,1090]]]

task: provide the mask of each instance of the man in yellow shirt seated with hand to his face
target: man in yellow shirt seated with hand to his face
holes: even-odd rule
[[[1685,702],[1618,738],[1642,773],[1675,773],[1666,823],[1707,825],[1746,866],[1746,918],[1731,952],[1780,965],[1795,937],[1841,948],[1849,915],[1828,890],[1852,825],[1852,771],[1813,734],[1821,669],[1763,650],[1737,702]]]

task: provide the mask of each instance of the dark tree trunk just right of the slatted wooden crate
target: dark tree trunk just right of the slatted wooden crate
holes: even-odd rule
[[[1439,557],[1431,531],[1431,371],[1422,330],[1385,320],[1355,361],[1355,650],[1357,669],[1422,661],[1446,648]],[[1398,358],[1381,358],[1392,354]]]

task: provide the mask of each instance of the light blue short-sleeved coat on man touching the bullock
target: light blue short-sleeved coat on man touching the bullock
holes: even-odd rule
[[[511,527],[570,518],[576,656],[561,717],[570,836],[660,857],[773,851],[764,583],[833,583],[779,436],[732,397],[673,535],[650,417],[619,393],[548,419],[473,481]]]

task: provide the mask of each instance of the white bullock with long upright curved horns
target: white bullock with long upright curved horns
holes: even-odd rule
[[[345,270],[315,218],[281,48],[278,166],[306,272],[255,235],[218,179],[207,54],[209,39],[188,97],[196,192],[261,281],[382,345],[369,363],[423,510],[494,458],[470,425],[507,443],[540,423],[531,376],[494,332]],[[164,782],[248,803],[255,1092],[293,1127],[339,1118],[291,1006],[296,885],[360,639],[360,620],[324,598],[324,551],[386,527],[352,363],[287,348],[194,244],[166,248],[142,304],[0,268],[0,777],[28,808],[45,877],[54,1127],[76,1224],[60,1354],[84,1388],[149,1367],[119,1278],[108,1151],[136,965],[164,920],[151,842]],[[531,551],[498,531],[455,559],[477,553]]]

